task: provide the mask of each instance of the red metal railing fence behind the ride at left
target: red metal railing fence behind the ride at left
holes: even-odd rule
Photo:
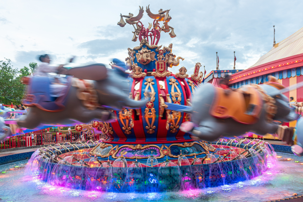
[[[33,132],[5,138],[4,140],[0,141],[0,149],[57,144],[64,142],[84,142],[88,140],[98,141],[106,138],[107,136],[105,134],[94,134],[92,137],[89,137],[87,134],[82,132]]]

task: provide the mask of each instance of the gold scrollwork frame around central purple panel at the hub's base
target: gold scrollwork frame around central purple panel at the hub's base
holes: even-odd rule
[[[126,144],[126,145],[122,145],[121,147],[116,147],[115,148],[115,152],[114,153],[112,153],[112,158],[114,158],[114,159],[117,159],[117,158],[119,158],[120,156],[121,156],[121,154],[118,154],[118,152],[122,149],[122,148],[124,148],[124,147],[127,147],[127,148],[130,148],[130,149],[132,149],[132,150],[144,150],[144,149],[148,149],[148,148],[150,148],[150,147],[156,147],[158,150],[159,150],[159,152],[160,152],[160,156],[158,156],[158,157],[155,157],[155,158],[163,158],[163,157],[165,157],[165,155],[166,155],[166,153],[167,153],[167,151],[164,151],[164,153],[163,153],[163,149],[164,149],[164,144],[162,144],[162,146],[161,147],[159,147],[158,145],[155,145],[155,144],[148,144],[148,145],[145,145],[145,146],[142,146],[141,144],[137,144],[137,145],[128,145],[128,144]],[[111,150],[112,151],[112,150]],[[111,151],[109,152],[109,154],[111,153]],[[117,154],[118,154],[118,156],[117,156]],[[125,155],[125,154],[123,154],[123,155]],[[137,156],[133,156],[133,157],[124,157],[124,158],[126,158],[126,159],[147,159],[148,157],[137,157]]]

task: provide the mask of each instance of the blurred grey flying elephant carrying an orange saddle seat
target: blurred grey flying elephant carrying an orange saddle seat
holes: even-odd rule
[[[217,88],[206,83],[199,87],[192,107],[165,103],[169,110],[191,114],[191,122],[181,124],[180,130],[205,141],[233,137],[253,132],[259,135],[274,134],[278,124],[298,118],[284,88],[271,78],[263,85],[245,86],[239,90]]]

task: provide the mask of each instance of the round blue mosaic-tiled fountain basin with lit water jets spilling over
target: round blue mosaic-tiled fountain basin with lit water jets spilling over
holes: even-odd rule
[[[226,147],[224,145],[215,145],[215,143],[208,144],[213,144],[216,148]],[[239,144],[238,150],[236,150],[235,146],[236,144],[231,144],[230,148],[233,148],[238,154],[240,152],[245,154],[245,151],[248,153],[249,151],[247,149],[254,147],[253,145]],[[246,150],[243,147],[245,147]],[[86,154],[79,155],[87,155],[88,157],[88,153],[91,153],[90,149],[79,147],[79,150],[66,153],[64,153],[64,150],[61,150],[63,154],[60,156],[68,157],[69,155],[66,155],[67,153],[76,155],[79,151],[86,152]],[[249,180],[267,171],[273,166],[274,162],[272,162],[272,158],[268,161],[268,157],[270,156],[268,155],[268,151],[271,150],[268,148],[266,151],[267,153],[260,151],[258,155],[247,158],[232,161],[231,158],[229,158],[229,161],[221,160],[222,162],[215,162],[214,160],[216,160],[216,156],[218,156],[218,151],[216,151],[211,154],[214,156],[212,161],[207,160],[204,155],[204,158],[200,158],[204,160],[203,164],[185,166],[178,166],[177,163],[174,163],[174,161],[177,160],[171,159],[171,161],[165,161],[172,162],[169,166],[165,166],[165,162],[162,164],[160,164],[160,162],[156,164],[156,166],[150,167],[144,164],[144,161],[146,163],[146,159],[141,159],[137,163],[139,166],[132,168],[129,164],[134,160],[128,161],[128,164],[125,162],[124,167],[101,167],[100,163],[102,163],[104,159],[99,158],[98,162],[100,163],[96,164],[98,166],[79,166],[78,163],[71,162],[71,164],[60,164],[60,169],[58,169],[58,163],[43,161],[42,158],[38,160],[38,174],[40,179],[52,185],[81,190],[163,192],[218,187]],[[232,155],[230,156],[234,157]],[[223,159],[228,159],[228,157],[222,157]],[[189,163],[192,161],[193,158],[189,158]],[[59,182],[59,184],[57,182]]]

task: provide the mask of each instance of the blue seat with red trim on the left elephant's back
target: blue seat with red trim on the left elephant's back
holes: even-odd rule
[[[50,84],[52,84],[50,77],[31,77],[23,104],[26,107],[35,106],[45,111],[62,111],[65,108],[64,102],[67,92],[55,99],[50,96]]]

